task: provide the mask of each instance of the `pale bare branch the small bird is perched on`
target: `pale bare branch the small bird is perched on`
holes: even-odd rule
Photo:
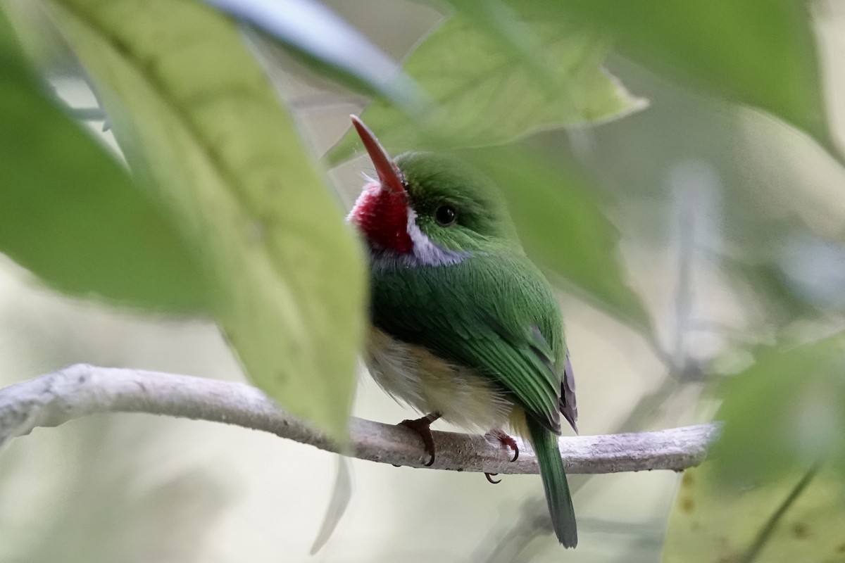
[[[156,371],[71,365],[0,390],[0,447],[39,426],[57,426],[98,413],[165,414],[263,430],[330,452],[341,449],[303,420],[281,410],[255,387]],[[675,471],[704,460],[718,425],[697,425],[605,436],[561,438],[567,471],[618,473]],[[344,453],[379,463],[421,468],[428,461],[418,436],[401,426],[352,418]],[[431,468],[500,474],[536,474],[537,461],[523,442],[520,457],[498,441],[454,432],[434,432],[437,458]]]

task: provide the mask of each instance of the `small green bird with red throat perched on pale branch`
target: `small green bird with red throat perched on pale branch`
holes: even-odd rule
[[[491,432],[516,456],[503,429],[531,441],[554,532],[575,547],[558,449],[560,415],[576,429],[575,379],[548,281],[480,173],[432,153],[394,161],[360,119],[352,122],[379,176],[349,214],[368,246],[370,373],[390,396],[426,414],[403,424],[423,436],[429,465],[429,425],[439,418]]]

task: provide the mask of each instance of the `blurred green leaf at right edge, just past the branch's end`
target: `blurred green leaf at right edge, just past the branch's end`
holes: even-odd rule
[[[845,462],[845,333],[766,350],[722,392],[717,418],[725,427],[713,456],[726,475],[764,478],[819,459]]]

